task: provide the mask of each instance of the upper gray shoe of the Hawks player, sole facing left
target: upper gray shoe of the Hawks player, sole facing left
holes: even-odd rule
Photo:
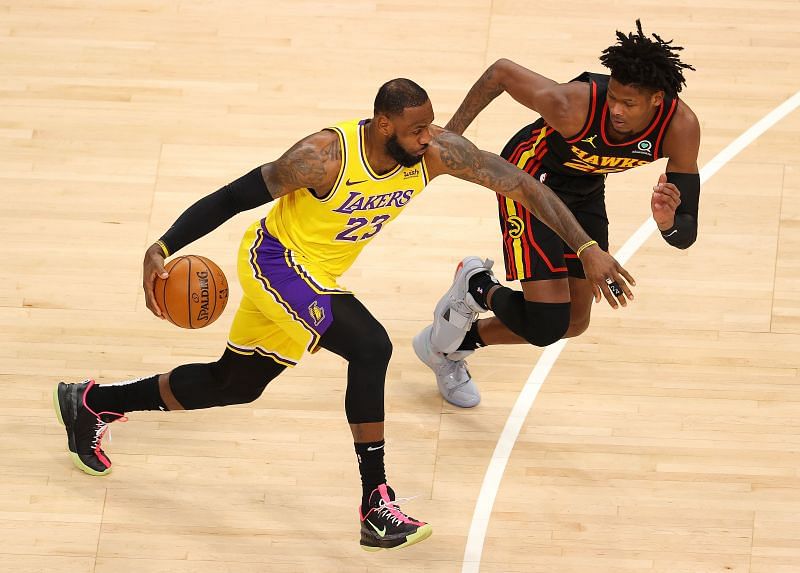
[[[431,342],[437,352],[453,352],[464,340],[478,313],[488,309],[479,305],[469,294],[469,279],[482,272],[492,273],[492,259],[466,257],[456,267],[453,284],[436,303],[433,310]]]

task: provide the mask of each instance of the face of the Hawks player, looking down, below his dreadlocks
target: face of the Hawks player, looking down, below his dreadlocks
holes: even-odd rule
[[[611,78],[606,101],[612,135],[627,137],[647,127],[664,101],[664,92],[621,84]]]

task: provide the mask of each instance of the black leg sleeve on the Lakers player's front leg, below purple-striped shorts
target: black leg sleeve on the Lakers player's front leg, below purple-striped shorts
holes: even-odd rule
[[[344,409],[351,424],[383,422],[383,391],[392,342],[386,329],[352,295],[331,300],[333,323],[320,346],[347,360]]]

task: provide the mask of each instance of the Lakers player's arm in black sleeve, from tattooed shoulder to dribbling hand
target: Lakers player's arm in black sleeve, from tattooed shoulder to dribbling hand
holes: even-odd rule
[[[162,317],[153,292],[156,277],[167,278],[164,260],[225,221],[297,189],[327,193],[341,164],[339,138],[321,131],[301,139],[275,161],[256,167],[186,209],[144,254],[142,286],[147,308]]]

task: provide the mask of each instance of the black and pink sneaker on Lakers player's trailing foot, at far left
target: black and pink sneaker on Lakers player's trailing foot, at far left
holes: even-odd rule
[[[101,447],[103,436],[108,424],[126,418],[116,412],[98,414],[86,405],[86,393],[94,383],[94,380],[80,384],[59,382],[53,391],[53,406],[58,421],[67,430],[67,445],[73,463],[87,474],[103,476],[111,471],[111,460]]]

